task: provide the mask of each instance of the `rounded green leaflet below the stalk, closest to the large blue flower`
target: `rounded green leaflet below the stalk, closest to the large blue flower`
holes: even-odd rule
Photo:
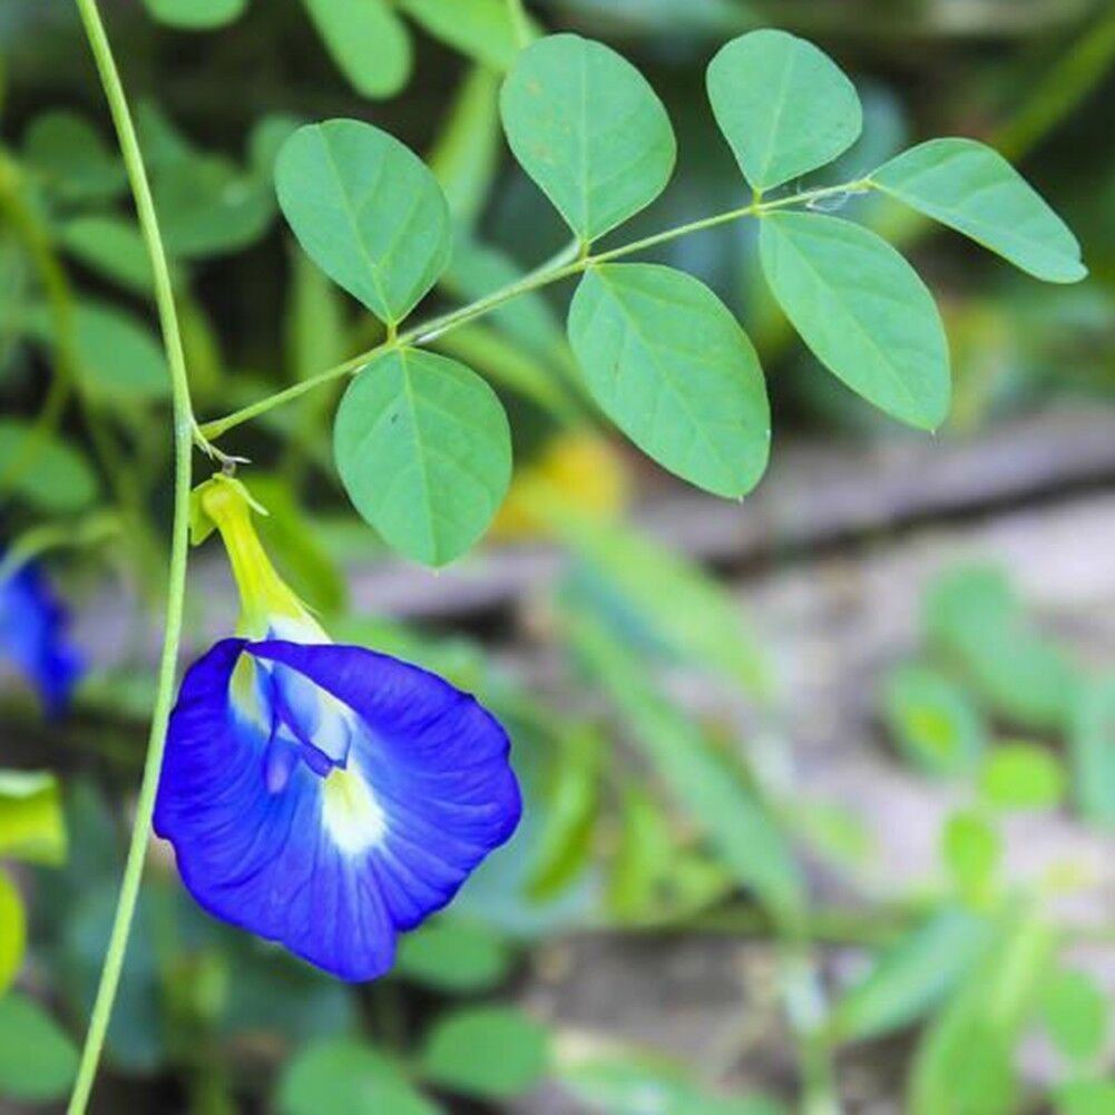
[[[333,430],[356,510],[396,550],[444,565],[487,529],[511,481],[511,430],[495,392],[464,365],[418,349],[374,360]]]

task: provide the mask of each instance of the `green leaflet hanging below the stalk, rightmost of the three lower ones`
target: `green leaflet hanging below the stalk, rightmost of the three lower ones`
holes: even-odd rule
[[[933,295],[886,241],[816,213],[772,213],[763,271],[814,356],[889,415],[935,429],[949,414],[944,327]]]

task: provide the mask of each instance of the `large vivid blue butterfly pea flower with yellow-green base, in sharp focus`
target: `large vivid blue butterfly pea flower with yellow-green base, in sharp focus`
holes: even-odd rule
[[[268,559],[236,481],[214,477],[195,501],[242,611],[236,638],[182,682],[155,830],[210,913],[374,979],[398,934],[517,825],[507,736],[437,675],[332,643]]]

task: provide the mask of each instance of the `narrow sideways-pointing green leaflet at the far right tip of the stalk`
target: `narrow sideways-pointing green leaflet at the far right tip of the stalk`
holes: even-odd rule
[[[919,144],[871,181],[1037,279],[1069,283],[1088,273],[1068,225],[1010,163],[975,139]]]

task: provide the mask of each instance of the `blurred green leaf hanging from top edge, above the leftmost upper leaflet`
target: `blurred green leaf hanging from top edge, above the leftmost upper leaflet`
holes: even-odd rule
[[[392,97],[410,77],[410,36],[387,0],[302,0],[326,49],[357,93]]]

